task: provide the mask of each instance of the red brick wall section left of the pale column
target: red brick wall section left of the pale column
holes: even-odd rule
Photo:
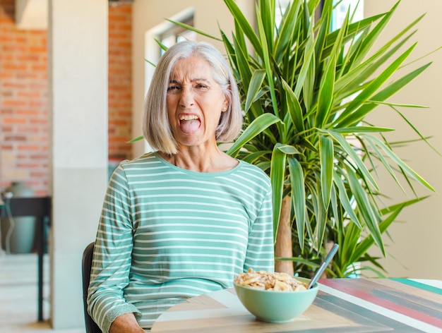
[[[18,30],[15,1],[0,0],[0,188],[24,181],[48,192],[47,32]]]

